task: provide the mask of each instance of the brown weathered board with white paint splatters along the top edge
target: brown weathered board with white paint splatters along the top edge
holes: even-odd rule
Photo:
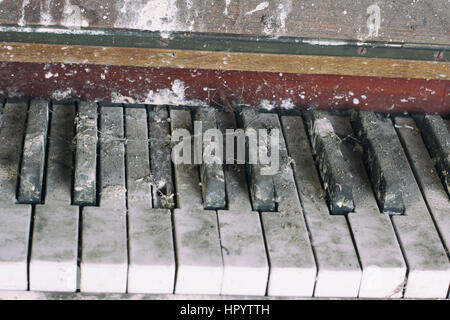
[[[0,23],[448,45],[449,9],[446,0],[5,0]]]

